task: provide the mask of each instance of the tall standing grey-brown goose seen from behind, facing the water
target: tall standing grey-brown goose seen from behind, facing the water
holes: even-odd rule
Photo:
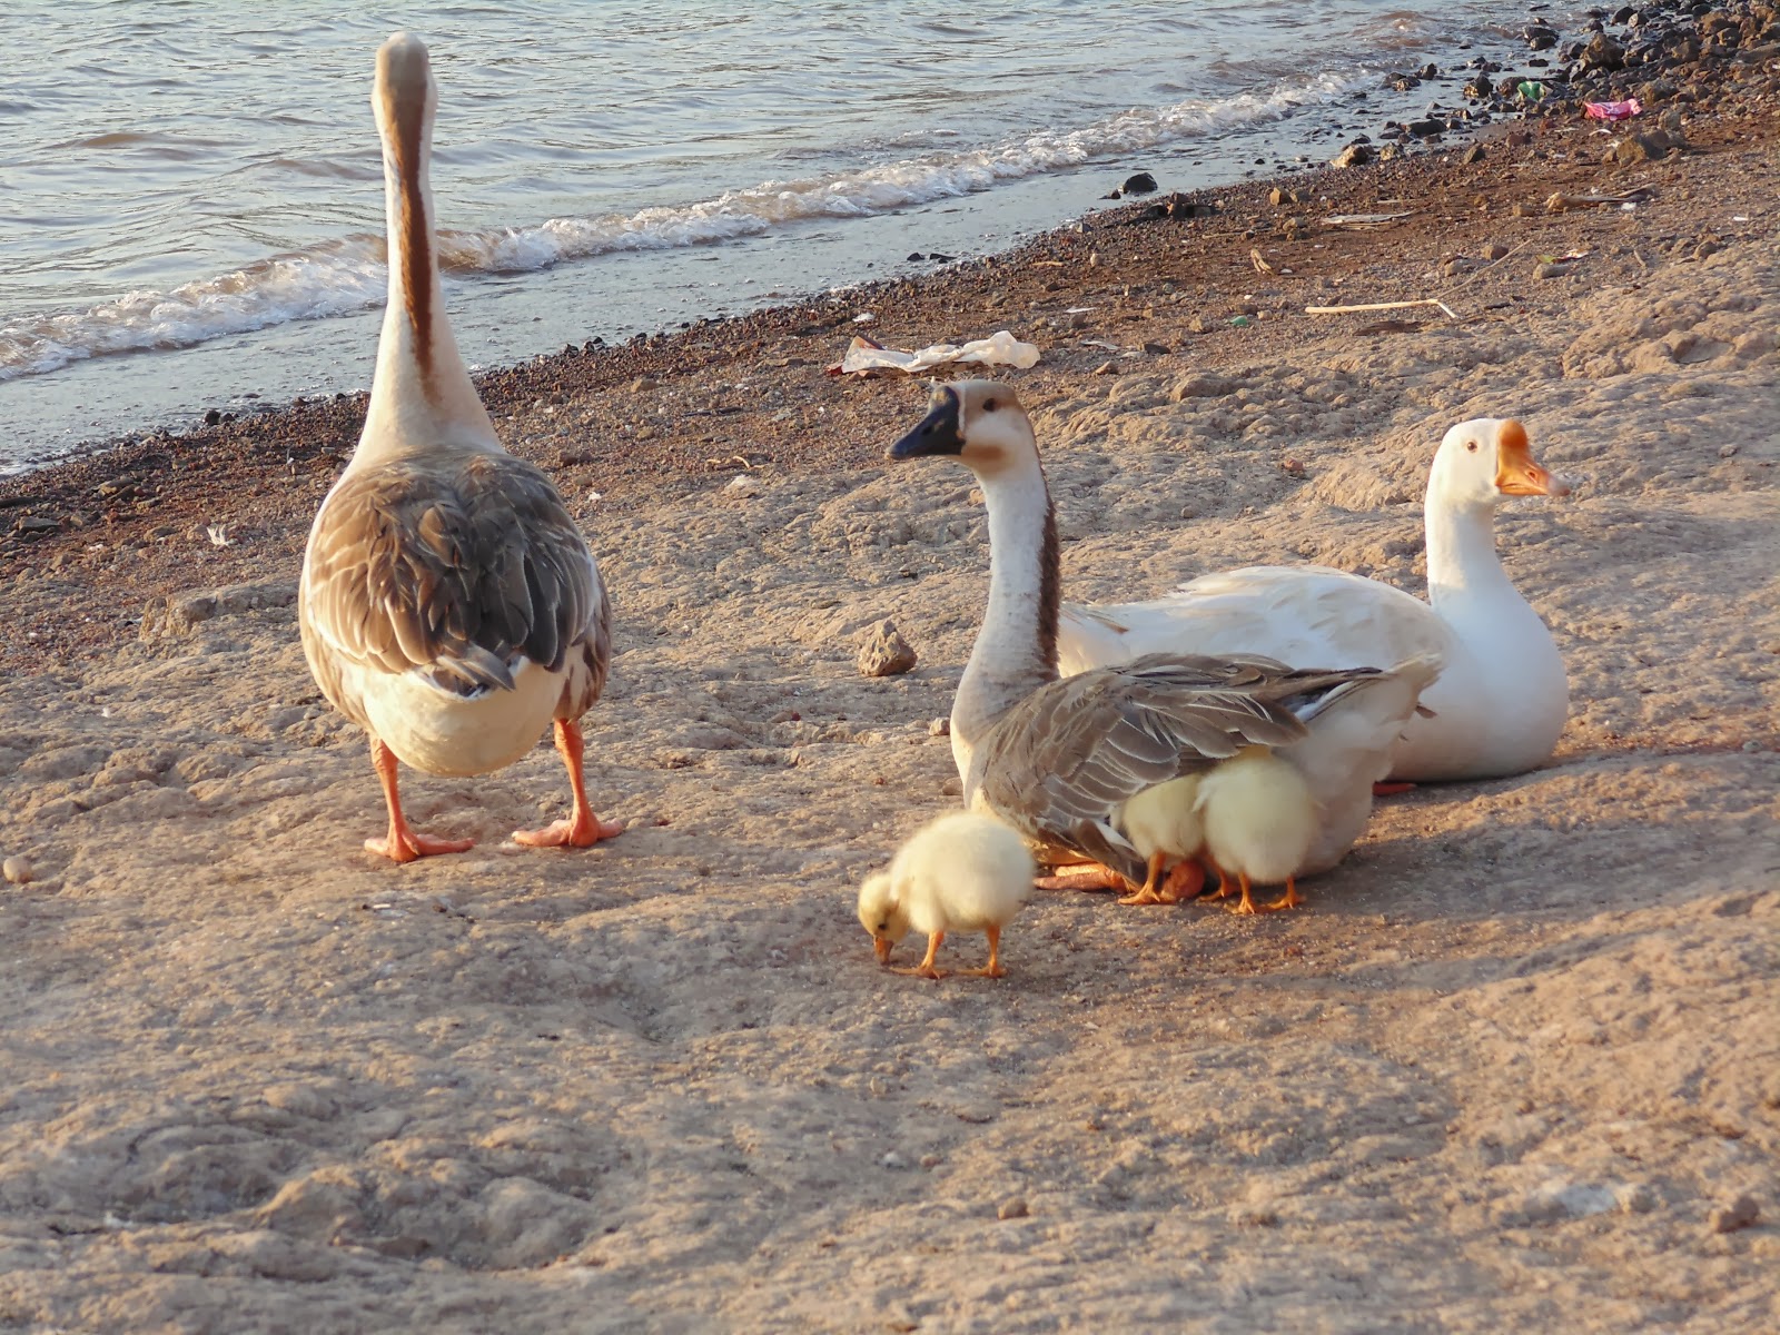
[[[621,833],[587,805],[578,719],[605,685],[611,605],[562,498],[495,438],[445,319],[427,160],[438,93],[427,48],[377,50],[390,304],[365,431],[322,500],[303,555],[297,619],[322,694],[370,739],[395,862],[461,853],[417,833],[397,762],[486,774],[555,726],[573,810],[527,846],[587,847]]]

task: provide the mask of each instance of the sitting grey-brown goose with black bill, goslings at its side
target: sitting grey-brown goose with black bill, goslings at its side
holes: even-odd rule
[[[1417,698],[1440,673],[1438,655],[1321,671],[1260,655],[1152,653],[1059,678],[1056,513],[1015,392],[995,381],[936,386],[927,417],[888,456],[956,457],[988,507],[988,611],[951,719],[967,808],[999,815],[1047,863],[1100,863],[1137,886],[1148,863],[1118,829],[1123,803],[1264,746],[1303,774],[1317,803],[1298,874],[1340,862]]]

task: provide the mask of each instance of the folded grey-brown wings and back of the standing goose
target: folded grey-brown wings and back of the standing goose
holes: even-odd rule
[[[603,682],[609,618],[562,498],[507,454],[349,473],[322,506],[303,564],[304,648],[324,689],[336,673],[324,675],[328,659],[418,669],[473,694],[511,689],[520,655],[559,671],[571,651]]]

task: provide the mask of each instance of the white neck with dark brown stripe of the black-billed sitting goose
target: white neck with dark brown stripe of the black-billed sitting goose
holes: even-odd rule
[[[1031,466],[983,479],[990,516],[990,603],[952,703],[952,751],[970,748],[1009,705],[1057,680],[1061,575],[1057,516],[1045,473]]]

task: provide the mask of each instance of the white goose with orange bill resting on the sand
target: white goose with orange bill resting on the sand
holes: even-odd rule
[[[1328,566],[1250,566],[1155,602],[1064,605],[1059,668],[1068,675],[1184,648],[1319,668],[1436,653],[1440,680],[1422,698],[1429,712],[1410,719],[1390,778],[1525,773],[1558,746],[1570,687],[1550,630],[1502,570],[1495,511],[1506,497],[1568,491],[1533,459],[1520,422],[1460,422],[1428,475],[1429,602]]]

